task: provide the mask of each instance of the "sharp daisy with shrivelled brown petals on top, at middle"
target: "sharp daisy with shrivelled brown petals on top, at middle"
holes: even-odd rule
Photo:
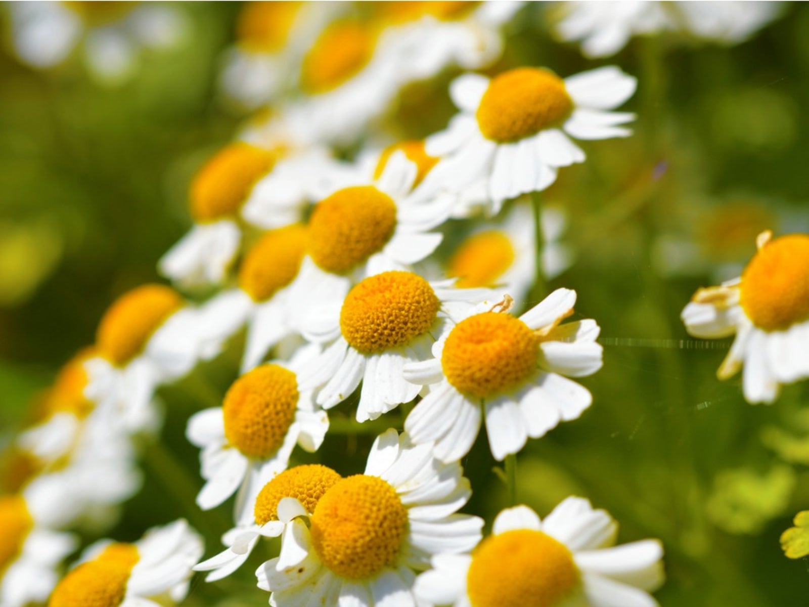
[[[434,441],[438,459],[459,460],[472,448],[484,412],[489,447],[502,461],[529,436],[578,418],[592,397],[565,376],[598,371],[602,349],[595,320],[561,325],[575,303],[575,291],[557,289],[516,318],[507,313],[506,296],[444,333],[433,346],[434,359],[405,365],[404,379],[430,386],[404,422],[413,442]]]

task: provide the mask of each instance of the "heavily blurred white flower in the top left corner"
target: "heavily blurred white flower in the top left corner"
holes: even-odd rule
[[[170,48],[188,28],[184,13],[163,2],[20,2],[9,10],[23,62],[50,68],[83,45],[87,68],[108,84],[129,78],[142,49]]]

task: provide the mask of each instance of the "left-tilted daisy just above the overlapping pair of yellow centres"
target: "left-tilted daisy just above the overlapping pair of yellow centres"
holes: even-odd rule
[[[188,440],[200,454],[205,486],[197,504],[210,510],[239,490],[237,522],[249,520],[261,487],[286,469],[295,446],[315,452],[328,430],[328,416],[315,405],[306,372],[317,346],[301,348],[289,363],[267,363],[231,385],[221,407],[188,420]],[[302,372],[303,371],[303,372]]]

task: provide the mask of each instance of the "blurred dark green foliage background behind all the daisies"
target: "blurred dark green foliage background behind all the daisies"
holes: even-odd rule
[[[180,9],[183,43],[143,53],[115,87],[78,61],[23,66],[0,17],[0,440],[93,341],[111,300],[159,279],[156,261],[190,225],[189,180],[247,117],[217,87],[240,3]],[[550,287],[574,288],[578,315],[598,320],[604,368],[582,381],[591,410],[519,454],[519,499],[544,515],[567,495],[587,496],[621,522],[622,541],[661,538],[662,605],[807,605],[809,562],[785,558],[778,537],[809,507],[809,385],[748,405],[738,379],[714,375],[729,342],[689,338],[679,315],[697,287],[738,275],[759,231],[809,231],[809,6],[785,6],[740,45],[636,38],[604,61],[554,40],[551,11],[519,13],[490,73],[614,64],[639,79],[628,104],[638,118],[633,137],[592,142],[587,162],[543,194],[565,209],[576,259]],[[458,73],[407,87],[388,129],[407,138],[442,129]],[[238,346],[161,390],[162,446],[147,451],[146,482],[113,537],[185,516],[213,554],[228,507],[193,507],[201,479],[184,424],[235,378]],[[373,433],[399,422],[395,411],[360,435],[330,434],[314,459],[357,472]],[[474,490],[466,511],[490,521],[506,490],[488,448],[464,466]],[[198,576],[187,604],[265,604],[253,569],[218,584]]]

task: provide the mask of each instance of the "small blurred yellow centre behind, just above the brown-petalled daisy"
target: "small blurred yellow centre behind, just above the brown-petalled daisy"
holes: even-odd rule
[[[498,278],[514,263],[514,245],[498,230],[470,236],[449,261],[448,274],[459,278],[457,287],[494,287]]]

